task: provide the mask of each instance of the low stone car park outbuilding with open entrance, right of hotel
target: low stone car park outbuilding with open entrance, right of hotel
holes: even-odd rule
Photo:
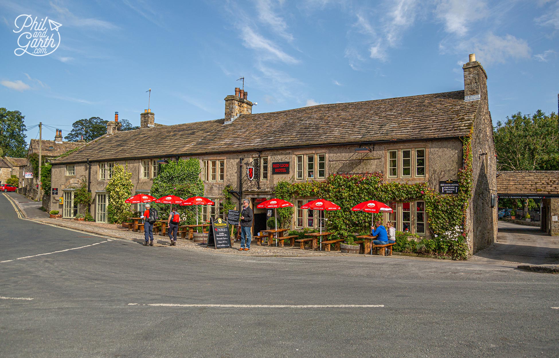
[[[499,171],[497,188],[499,198],[542,199],[540,228],[548,235],[559,236],[559,171]]]

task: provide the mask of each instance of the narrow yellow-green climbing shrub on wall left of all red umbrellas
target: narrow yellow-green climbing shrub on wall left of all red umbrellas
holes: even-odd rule
[[[107,221],[110,223],[126,221],[131,215],[130,204],[125,203],[134,188],[130,178],[132,173],[128,171],[128,165],[117,164],[112,169],[111,179],[105,188],[108,194]]]

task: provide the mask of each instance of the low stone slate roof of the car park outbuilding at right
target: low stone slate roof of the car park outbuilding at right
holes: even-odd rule
[[[559,170],[497,172],[497,192],[504,194],[559,194]]]

